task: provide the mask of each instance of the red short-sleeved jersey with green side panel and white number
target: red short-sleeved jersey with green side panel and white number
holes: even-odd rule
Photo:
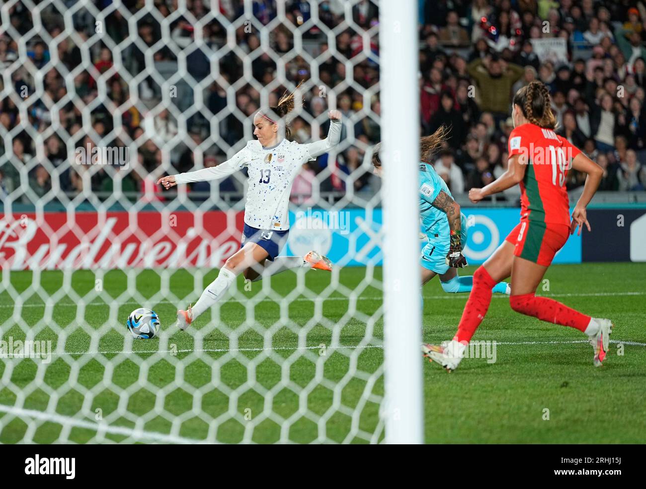
[[[565,177],[570,160],[581,150],[551,129],[523,124],[509,135],[509,157],[525,154],[521,181],[521,219],[570,225],[570,201]]]

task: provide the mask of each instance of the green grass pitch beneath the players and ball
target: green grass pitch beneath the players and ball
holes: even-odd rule
[[[249,291],[239,278],[240,300],[216,309],[218,327],[209,331],[207,312],[192,332],[172,326],[176,307],[196,299],[191,272],[169,272],[162,284],[156,272],[141,271],[129,288],[131,274],[101,275],[99,297],[94,297],[93,272],[65,278],[57,271],[39,277],[32,272],[5,275],[2,339],[24,339],[23,328],[47,324],[36,339],[52,340],[55,350],[57,341],[63,341],[65,354],[54,354],[49,364],[0,359],[0,443],[133,441],[133,430],[143,430],[137,438],[143,442],[383,439],[382,293],[370,285],[372,276],[380,283],[380,268],[340,270],[343,290],[359,297],[351,302],[324,272],[273,277],[269,297],[289,297],[282,305],[271,299],[255,305],[245,300],[264,294],[263,284],[253,283]],[[215,275],[214,270],[205,274],[204,283]],[[420,355],[426,442],[645,443],[645,277],[646,264],[555,265],[546,275],[548,283],[539,288],[541,295],[614,321],[613,343],[600,368],[592,365],[592,348],[578,331],[516,314],[505,297],[494,295],[474,340],[498,343],[495,363],[464,359],[448,374]],[[181,303],[163,297],[162,285],[182,297]],[[298,296],[302,286],[311,293]],[[134,287],[145,301],[133,296]],[[76,295],[59,295],[70,288],[91,303],[84,312]],[[16,293],[25,299],[20,314]],[[317,296],[332,299],[319,300],[315,310],[309,299]],[[108,297],[119,303],[112,316],[104,302]],[[450,339],[466,299],[466,294],[444,294],[437,279],[427,284],[424,341]],[[138,306],[160,315],[160,339],[129,339],[123,324]],[[255,317],[253,328],[245,324],[247,317]],[[375,321],[366,326],[368,317]],[[48,326],[54,323],[63,339],[56,327]],[[366,327],[372,328],[371,334]],[[202,330],[206,333],[198,334],[198,340],[203,335],[200,345],[194,335]],[[87,331],[99,332],[96,343]],[[353,375],[355,370],[359,374]],[[19,402],[21,392],[24,402]]]

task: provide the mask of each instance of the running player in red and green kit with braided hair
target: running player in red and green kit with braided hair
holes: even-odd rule
[[[511,275],[509,302],[512,309],[583,332],[594,348],[594,364],[599,366],[608,350],[612,322],[581,314],[554,299],[534,294],[568,236],[577,228],[581,234],[583,226],[590,230],[585,209],[599,186],[603,170],[567,139],[554,133],[556,118],[543,83],[534,81],[516,92],[512,117],[514,130],[508,141],[508,169],[484,188],[472,188],[469,198],[477,203],[487,195],[520,184],[521,222],[475,271],[474,285],[453,340],[444,348],[424,344],[422,352],[446,370],[455,370],[476,328],[485,318],[492,287]],[[572,168],[587,174],[571,221],[565,190],[570,161]]]

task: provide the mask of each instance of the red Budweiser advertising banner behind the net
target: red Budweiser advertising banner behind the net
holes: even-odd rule
[[[11,270],[218,268],[240,246],[244,212],[0,214]]]

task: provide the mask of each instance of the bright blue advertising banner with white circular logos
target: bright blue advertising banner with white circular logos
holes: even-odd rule
[[[465,208],[468,263],[483,263],[519,223],[519,208]],[[319,208],[290,212],[289,239],[283,255],[304,255],[310,250],[327,255],[341,266],[381,265],[381,209],[328,212]],[[420,250],[424,246],[420,240]],[[581,237],[570,236],[554,263],[581,263]]]

